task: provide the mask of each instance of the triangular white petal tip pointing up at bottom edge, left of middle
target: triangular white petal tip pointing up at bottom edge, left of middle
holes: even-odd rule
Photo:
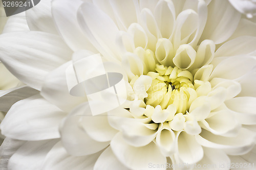
[[[110,147],[108,147],[103,153],[99,156],[98,160],[95,163],[93,168],[94,170],[112,170],[112,169],[124,169],[129,170],[130,168],[125,167],[117,157],[113,154]]]

